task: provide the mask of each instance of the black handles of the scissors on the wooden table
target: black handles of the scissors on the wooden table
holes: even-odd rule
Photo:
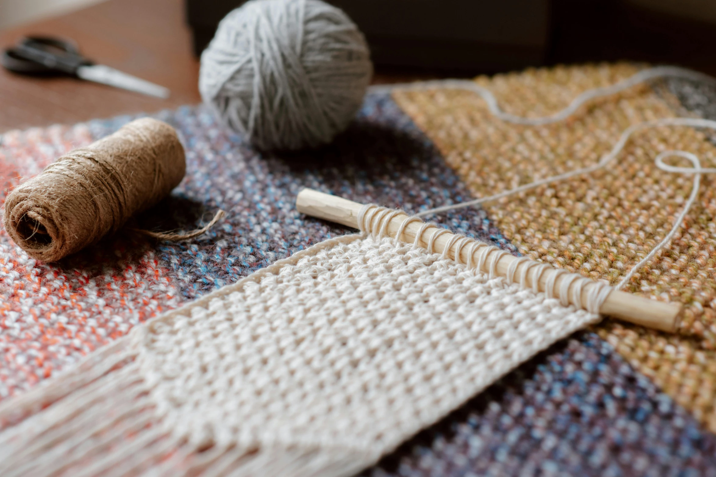
[[[0,58],[10,71],[24,74],[64,73],[76,75],[80,66],[92,64],[69,41],[30,36],[6,49]]]

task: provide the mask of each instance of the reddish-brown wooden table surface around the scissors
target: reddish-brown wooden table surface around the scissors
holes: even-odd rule
[[[123,91],[74,78],[34,78],[0,67],[0,132],[72,124],[119,114],[152,113],[196,104],[199,62],[191,52],[183,0],[109,0],[53,19],[0,31],[0,48],[22,36],[64,36],[100,64],[167,86],[169,99]],[[435,77],[377,74],[385,83]]]

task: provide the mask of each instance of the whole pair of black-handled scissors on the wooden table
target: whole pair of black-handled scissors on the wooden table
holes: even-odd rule
[[[18,44],[3,52],[0,64],[19,74],[65,74],[157,98],[169,97],[169,90],[164,86],[122,73],[110,66],[95,64],[82,56],[72,41],[49,36],[29,36],[21,39]]]

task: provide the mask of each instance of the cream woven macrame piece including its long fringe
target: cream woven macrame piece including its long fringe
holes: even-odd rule
[[[598,319],[413,244],[329,239],[4,403],[0,475],[349,476]]]

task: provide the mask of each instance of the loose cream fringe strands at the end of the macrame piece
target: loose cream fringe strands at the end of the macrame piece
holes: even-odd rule
[[[130,336],[0,407],[0,476],[343,477],[374,461],[351,449],[242,448],[174,436]]]

